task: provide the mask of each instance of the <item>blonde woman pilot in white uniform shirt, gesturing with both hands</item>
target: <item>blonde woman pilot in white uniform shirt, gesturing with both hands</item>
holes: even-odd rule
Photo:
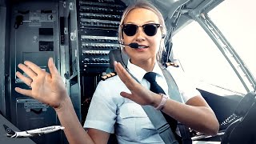
[[[19,72],[17,76],[32,90],[18,87],[15,90],[54,107],[70,143],[107,143],[113,133],[118,143],[164,143],[142,109],[144,105],[162,110],[203,134],[217,134],[218,120],[198,90],[180,81],[177,83],[183,102],[176,102],[168,95],[168,84],[158,65],[165,34],[162,14],[154,6],[141,1],[127,7],[119,27],[119,41],[125,45],[135,42],[141,48],[124,46],[123,51],[130,57],[127,68],[115,62],[118,76],[98,83],[84,124],[86,130],[78,121],[52,58],[48,62],[50,74],[32,62],[19,64],[30,78]],[[145,77],[148,72],[154,72],[155,81],[165,94],[150,89],[151,84]]]

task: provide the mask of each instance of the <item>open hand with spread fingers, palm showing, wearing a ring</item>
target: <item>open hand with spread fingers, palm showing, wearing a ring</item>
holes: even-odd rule
[[[38,101],[58,109],[67,97],[66,87],[62,82],[61,76],[58,74],[57,68],[54,66],[53,58],[49,58],[48,66],[50,74],[33,62],[25,61],[24,64],[18,64],[18,67],[30,78],[27,78],[20,72],[16,73],[17,77],[30,86],[31,90],[19,87],[16,87],[15,90],[20,94],[38,99]]]

